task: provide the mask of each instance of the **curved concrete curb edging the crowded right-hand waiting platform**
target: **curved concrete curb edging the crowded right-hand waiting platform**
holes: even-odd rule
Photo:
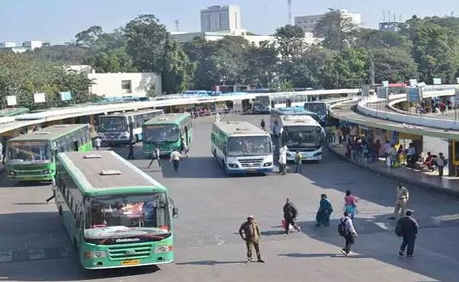
[[[376,173],[376,174],[379,174],[381,176],[385,176],[387,178],[398,180],[400,182],[407,183],[407,184],[410,184],[410,185],[416,185],[416,186],[418,186],[420,188],[423,188],[423,189],[429,189],[429,190],[433,189],[433,190],[436,190],[437,192],[441,192],[441,193],[446,194],[446,195],[459,197],[459,191],[451,190],[451,189],[448,189],[448,188],[443,188],[442,186],[439,186],[439,185],[434,185],[434,184],[430,184],[430,183],[424,183],[422,181],[412,180],[411,178],[407,178],[407,177],[403,177],[403,176],[395,176],[392,173],[389,173],[387,171],[380,171],[377,168],[372,168],[372,167],[369,167],[369,166],[365,166],[364,164],[360,164],[360,163],[357,163],[357,162],[352,161],[350,159],[347,159],[342,154],[336,152],[332,147],[330,147],[330,145],[327,145],[327,147],[330,150],[330,152],[333,152],[333,154],[335,154],[336,156],[340,157],[341,159],[344,159],[345,161],[348,161],[350,164],[353,164],[354,166],[360,166],[361,168],[364,168],[366,171],[370,171],[371,173]]]

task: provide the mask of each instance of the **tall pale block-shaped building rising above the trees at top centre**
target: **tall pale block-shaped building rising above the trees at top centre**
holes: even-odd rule
[[[201,32],[241,30],[241,8],[234,5],[210,6],[201,10]]]

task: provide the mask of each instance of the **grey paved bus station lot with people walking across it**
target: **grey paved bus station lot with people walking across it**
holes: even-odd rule
[[[262,116],[238,117],[258,124]],[[233,117],[235,118],[235,117]],[[224,119],[224,118],[222,118]],[[82,271],[59,216],[43,204],[48,185],[15,185],[1,179],[0,279],[5,281],[457,281],[459,276],[458,200],[410,187],[410,207],[422,225],[416,257],[395,254],[399,240],[387,219],[395,182],[352,166],[326,152],[321,164],[305,164],[302,174],[227,177],[210,157],[210,119],[194,125],[192,154],[173,173],[147,169],[148,160],[133,164],[167,185],[180,207],[176,262],[158,267]],[[140,148],[139,148],[140,149]],[[126,148],[116,148],[126,154]],[[139,151],[140,152],[140,151]],[[341,257],[342,238],[336,221],[346,189],[361,198],[355,255]],[[321,193],[335,208],[328,228],[314,227]],[[301,233],[280,228],[285,197],[299,207]],[[266,264],[245,264],[244,244],[236,234],[247,214],[263,230]],[[11,252],[13,251],[13,252]]]

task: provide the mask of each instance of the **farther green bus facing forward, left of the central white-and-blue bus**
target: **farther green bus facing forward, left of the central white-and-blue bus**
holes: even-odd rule
[[[143,152],[150,156],[153,147],[160,149],[160,154],[170,154],[174,148],[180,148],[181,138],[186,145],[191,145],[190,114],[165,114],[143,123]]]

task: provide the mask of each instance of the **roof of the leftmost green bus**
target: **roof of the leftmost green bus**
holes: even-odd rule
[[[59,124],[59,125],[51,125],[47,128],[42,128],[37,131],[33,131],[28,135],[22,135],[15,137],[9,142],[12,141],[37,141],[37,140],[54,140],[62,135],[67,133],[71,133],[75,130],[88,127],[87,124]]]

